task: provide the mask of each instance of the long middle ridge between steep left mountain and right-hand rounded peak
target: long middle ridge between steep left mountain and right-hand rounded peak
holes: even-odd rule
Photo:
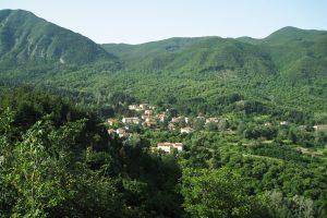
[[[130,68],[169,71],[247,69],[274,71],[269,53],[253,45],[220,37],[171,38],[142,45],[102,45]]]

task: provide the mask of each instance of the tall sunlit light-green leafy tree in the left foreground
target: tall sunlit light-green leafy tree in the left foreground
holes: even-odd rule
[[[59,154],[50,148],[51,129],[37,122],[16,144],[12,171],[7,175],[17,192],[14,216],[46,217],[47,209],[61,204],[64,189],[64,169]]]

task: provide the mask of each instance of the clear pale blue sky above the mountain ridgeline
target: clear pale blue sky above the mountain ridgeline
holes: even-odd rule
[[[96,43],[327,29],[327,0],[0,0],[0,9],[32,11]]]

